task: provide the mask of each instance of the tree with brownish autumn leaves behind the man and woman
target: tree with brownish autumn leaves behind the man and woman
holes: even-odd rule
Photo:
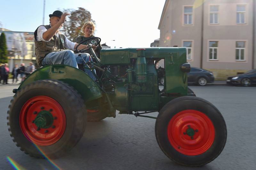
[[[95,21],[92,20],[91,13],[82,7],[78,7],[78,10],[63,9],[62,11],[70,13],[70,16],[67,17],[67,21],[62,26],[61,32],[71,41],[78,35],[84,35],[81,28],[86,21],[92,21],[95,24]]]

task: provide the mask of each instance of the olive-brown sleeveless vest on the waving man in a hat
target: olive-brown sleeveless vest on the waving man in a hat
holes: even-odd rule
[[[40,25],[42,26],[42,25]],[[43,25],[47,30],[50,27],[50,25]],[[37,27],[38,29],[38,27]],[[65,50],[64,47],[64,35],[59,33],[59,37],[57,37],[56,35],[54,35],[50,41],[48,42],[44,42],[44,41],[37,41],[36,40],[36,36],[37,36],[37,29],[34,32],[34,36],[35,36],[35,50],[36,50],[36,62],[38,64],[38,66],[42,66],[42,61],[44,59],[44,57],[51,53],[51,52],[56,52],[56,51],[62,51]]]

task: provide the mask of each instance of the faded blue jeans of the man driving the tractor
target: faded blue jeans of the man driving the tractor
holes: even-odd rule
[[[92,58],[88,53],[81,53],[81,57],[83,57],[85,62],[89,60],[92,61]],[[77,64],[83,64],[85,67],[86,64],[81,57],[78,56],[78,54],[75,54],[72,50],[52,52],[44,57],[42,65],[65,64],[78,68]],[[95,70],[93,71],[96,73]],[[92,78],[92,80],[96,80],[91,70],[84,68],[84,72],[87,73]]]

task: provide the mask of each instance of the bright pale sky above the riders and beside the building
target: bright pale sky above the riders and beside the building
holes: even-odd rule
[[[43,24],[44,0],[0,0],[2,27],[34,32]],[[95,36],[111,48],[150,47],[160,37],[159,21],[165,0],[46,0],[44,24],[58,9],[83,7],[96,22]],[[115,41],[113,41],[115,40]]]

